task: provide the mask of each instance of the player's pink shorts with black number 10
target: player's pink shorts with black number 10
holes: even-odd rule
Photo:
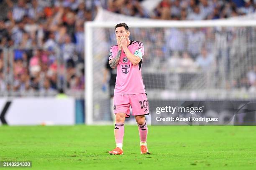
[[[149,114],[148,98],[146,93],[114,95],[114,114],[125,113],[126,117],[130,117],[130,105],[133,111],[133,116]]]

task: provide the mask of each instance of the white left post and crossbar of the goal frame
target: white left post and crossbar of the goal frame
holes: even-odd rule
[[[117,22],[93,22],[92,21],[92,22],[84,23],[84,32],[85,32],[85,34],[84,34],[85,35],[85,45],[84,45],[84,48],[85,48],[85,50],[84,50],[85,51],[85,123],[87,125],[96,124],[96,122],[94,120],[94,114],[95,114],[94,112],[95,112],[95,108],[97,108],[98,106],[94,107],[94,97],[95,97],[95,95],[100,95],[100,93],[97,93],[97,91],[94,89],[95,86],[98,86],[97,89],[100,89],[99,88],[100,85],[97,83],[94,84],[94,79],[97,79],[97,77],[95,77],[95,75],[94,75],[94,72],[97,72],[97,69],[94,70],[94,67],[95,67],[94,60],[95,60],[95,56],[97,56],[97,54],[95,54],[93,47],[94,47],[94,45],[98,45],[98,50],[101,50],[100,45],[102,45],[102,44],[108,45],[107,42],[105,43],[105,42],[102,42],[101,39],[97,39],[98,38],[97,36],[102,36],[102,35],[97,35],[97,32],[95,32],[95,30],[98,29],[97,31],[101,32],[102,30],[105,30],[105,29],[112,29],[113,30],[112,33],[115,34],[114,28],[115,28],[115,25],[118,23],[122,23],[122,22],[118,22],[118,21]],[[220,27],[220,28],[251,27],[254,29],[253,35],[254,35],[255,28],[256,28],[256,20],[202,20],[202,21],[163,21],[163,20],[152,21],[152,20],[150,20],[150,21],[135,21],[135,22],[128,21],[125,23],[131,29],[139,28],[139,29],[145,29],[145,30],[151,29],[151,28],[152,29],[153,28],[154,29],[155,28],[189,29],[189,28],[215,28],[215,27],[216,28],[218,28],[218,27]],[[102,30],[99,30],[99,29],[102,29]],[[152,31],[153,31],[152,33],[154,34],[158,30],[152,30]],[[154,31],[156,31],[156,32],[154,32]],[[160,30],[160,31],[162,31],[162,30]],[[104,34],[104,32],[102,34]],[[161,40],[157,40],[157,41],[161,41]],[[154,42],[152,42],[152,43],[154,43]],[[253,43],[254,43],[254,40],[253,40]],[[114,45],[114,44],[112,44],[112,45]],[[243,44],[241,44],[241,45],[243,45]],[[255,45],[255,44],[253,44],[253,45]],[[109,46],[109,49],[110,49],[110,46]],[[167,50],[169,50],[169,49],[167,49]],[[256,54],[254,55],[254,57],[255,56],[256,56]],[[104,56],[100,56],[100,57],[97,56],[97,58],[101,58],[101,57],[103,57],[103,58],[108,57],[108,52],[106,52]],[[98,59],[98,60],[102,60],[102,59]],[[149,66],[148,66],[148,70],[149,70]],[[142,68],[142,72],[143,72],[143,68]],[[148,71],[148,72],[150,72],[150,71]],[[200,78],[200,80],[201,80],[201,78]],[[153,78],[150,77],[149,79],[151,80]],[[158,79],[156,81],[154,80],[154,82],[159,82],[159,80],[161,81],[161,79]],[[193,83],[194,82],[191,82],[191,84],[193,84]],[[197,86],[197,85],[195,84],[194,86]],[[200,85],[200,87],[201,86],[202,86],[202,89],[199,89],[201,92],[203,90],[207,91],[208,89],[213,89],[212,86],[209,86],[209,88],[206,88],[204,85]],[[183,90],[178,90],[178,91],[180,92],[180,94],[182,96],[182,92],[187,93],[190,90],[193,91],[193,87],[192,87],[192,85],[186,86],[186,87],[183,87]],[[177,88],[177,89],[181,89],[181,88]],[[164,90],[165,90],[165,93],[168,92],[168,89],[164,89]],[[220,87],[216,87],[216,91],[217,90],[218,90],[218,92],[220,92]],[[225,89],[223,88],[222,90],[225,93]],[[147,88],[146,88],[146,91],[147,91]],[[159,91],[156,89],[153,89],[152,93],[159,92]],[[174,91],[175,91],[175,89],[174,89]],[[213,93],[215,93],[216,91],[213,91]],[[168,95],[169,95],[169,93],[168,93]],[[183,97],[183,98],[186,98],[186,97]],[[201,97],[201,98],[204,98],[204,97]],[[97,110],[99,111],[100,109],[97,108]],[[100,121],[100,122],[104,122],[104,121]]]

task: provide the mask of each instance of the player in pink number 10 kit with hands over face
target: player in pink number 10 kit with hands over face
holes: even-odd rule
[[[124,122],[125,117],[130,117],[130,105],[138,124],[141,154],[149,154],[145,119],[145,115],[149,114],[149,106],[141,76],[144,47],[142,42],[129,40],[130,31],[125,23],[115,26],[115,36],[117,45],[111,47],[108,59],[111,68],[117,67],[113,102],[116,148],[109,154],[123,155]]]

